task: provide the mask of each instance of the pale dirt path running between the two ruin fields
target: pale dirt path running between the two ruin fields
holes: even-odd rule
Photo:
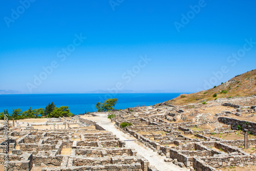
[[[106,115],[102,115],[100,117],[90,117],[88,119],[95,120],[100,124],[105,130],[112,132],[116,135],[120,140],[125,141],[126,146],[129,148],[135,149],[138,155],[143,156],[150,162],[150,165],[155,166],[159,171],[169,171],[169,170],[190,170],[187,168],[181,168],[173,163],[165,162],[165,156],[160,156],[152,149],[144,146],[139,145],[136,141],[129,141],[135,140],[134,137],[130,137],[130,134],[124,134],[120,130],[116,129],[114,123],[111,123],[110,120],[107,118]]]

